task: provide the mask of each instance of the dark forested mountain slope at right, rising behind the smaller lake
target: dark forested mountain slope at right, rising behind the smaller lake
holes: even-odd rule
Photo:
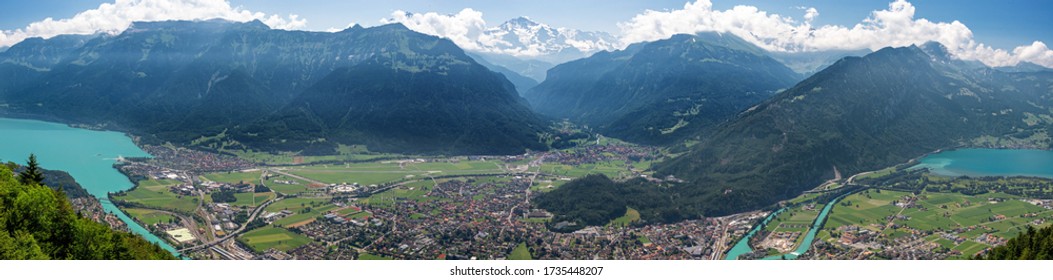
[[[992,137],[1053,148],[1050,86],[1053,73],[994,71],[938,43],[887,47],[841,59],[655,168],[688,181],[672,192],[692,213],[720,216],[799,195],[834,168],[874,171]]]

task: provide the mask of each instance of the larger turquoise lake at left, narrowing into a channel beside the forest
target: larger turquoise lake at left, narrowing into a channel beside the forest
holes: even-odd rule
[[[25,164],[31,153],[37,155],[40,166],[69,173],[87,193],[102,202],[106,212],[127,223],[132,232],[175,254],[175,248],[132,221],[106,197],[107,193],[133,186],[127,177],[113,167],[117,157],[151,156],[127,136],[117,132],[74,128],[61,123],[0,118],[0,160]]]

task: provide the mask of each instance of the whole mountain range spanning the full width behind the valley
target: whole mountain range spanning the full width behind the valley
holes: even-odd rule
[[[501,28],[571,38],[526,19]],[[0,113],[153,143],[301,155],[346,144],[519,154],[548,149],[551,121],[569,119],[677,155],[652,168],[680,183],[592,178],[542,195],[564,198],[538,199],[597,221],[617,213],[558,204],[600,198],[595,184],[612,184],[602,197],[662,198],[617,201],[675,221],[766,207],[835,174],[940,148],[1053,148],[1053,72],[992,68],[938,43],[773,54],[730,34],[677,35],[598,51],[543,80],[499,59],[401,24],[314,33],[259,21],[137,22],[119,35],[29,39],[0,53]]]

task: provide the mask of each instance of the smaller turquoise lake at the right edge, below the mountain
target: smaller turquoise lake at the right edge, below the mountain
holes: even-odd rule
[[[963,148],[929,155],[914,168],[943,176],[1034,176],[1053,178],[1053,151]]]

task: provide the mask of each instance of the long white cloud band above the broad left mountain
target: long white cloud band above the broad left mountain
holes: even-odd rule
[[[227,19],[250,21],[259,19],[279,29],[298,29],[307,24],[297,15],[281,17],[232,7],[226,0],[116,0],[81,12],[72,18],[29,23],[25,27],[0,32],[0,46],[9,46],[29,37],[51,38],[62,34],[116,34],[134,21]]]

